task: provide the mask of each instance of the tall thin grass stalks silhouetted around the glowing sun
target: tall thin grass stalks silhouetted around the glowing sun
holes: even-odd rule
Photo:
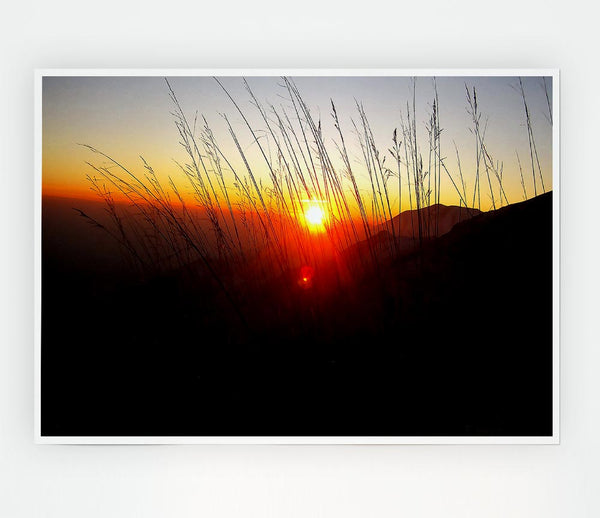
[[[231,139],[227,145],[218,141],[203,116],[188,117],[166,80],[174,123],[186,156],[183,163],[176,163],[179,177],[161,180],[143,158],[143,173],[136,174],[110,155],[86,146],[104,162],[88,164],[92,170],[88,180],[92,190],[104,200],[110,224],[85,213],[81,215],[110,233],[127,251],[140,274],[183,268],[195,277],[195,282],[214,285],[244,327],[253,325],[257,310],[252,300],[256,293],[275,290],[278,300],[291,304],[301,303],[302,297],[308,296],[302,279],[297,279],[302,266],[318,270],[334,264],[332,275],[318,289],[322,294],[343,292],[351,297],[360,279],[371,274],[377,277],[382,264],[403,253],[403,239],[412,237],[417,246],[424,246],[438,236],[445,188],[442,178],[444,183],[449,182],[449,188],[456,192],[460,206],[467,212],[481,209],[485,189],[491,208],[509,203],[503,186],[503,165],[494,161],[486,145],[487,122],[482,122],[475,88],[465,85],[476,144],[475,177],[469,193],[456,144],[455,170],[451,171],[452,166],[443,156],[435,81],[430,117],[425,124],[429,142],[426,162],[419,145],[416,79],[411,99],[399,114],[399,128],[391,132],[391,147],[387,150],[376,142],[366,109],[359,101],[356,118],[351,119],[351,137],[345,134],[340,114],[331,101],[336,137],[326,142],[321,119],[315,119],[292,79],[282,78],[287,103],[277,107],[261,103],[244,80],[250,109],[258,115],[260,127],[252,125],[247,109],[223,82],[218,78],[215,81],[236,117],[241,118],[258,158],[248,155],[240,130],[234,128],[227,114],[222,114]],[[543,177],[521,80],[519,85],[537,194],[538,180],[544,189]],[[357,147],[349,146],[349,139]],[[358,157],[351,154],[351,147],[359,150]],[[341,166],[336,165],[339,160],[334,156],[341,160]],[[389,158],[390,167],[386,162]],[[518,156],[517,159],[527,198]],[[263,180],[263,171],[267,181]],[[483,189],[482,177],[486,184]],[[116,195],[126,200],[126,211],[115,202]],[[408,207],[405,201],[403,204],[406,199]],[[305,223],[306,212],[315,203],[325,214],[323,228],[318,232]],[[409,215],[400,216],[406,209],[410,209]],[[401,235],[401,217],[411,218],[412,236]],[[311,287],[317,290],[316,284]]]

